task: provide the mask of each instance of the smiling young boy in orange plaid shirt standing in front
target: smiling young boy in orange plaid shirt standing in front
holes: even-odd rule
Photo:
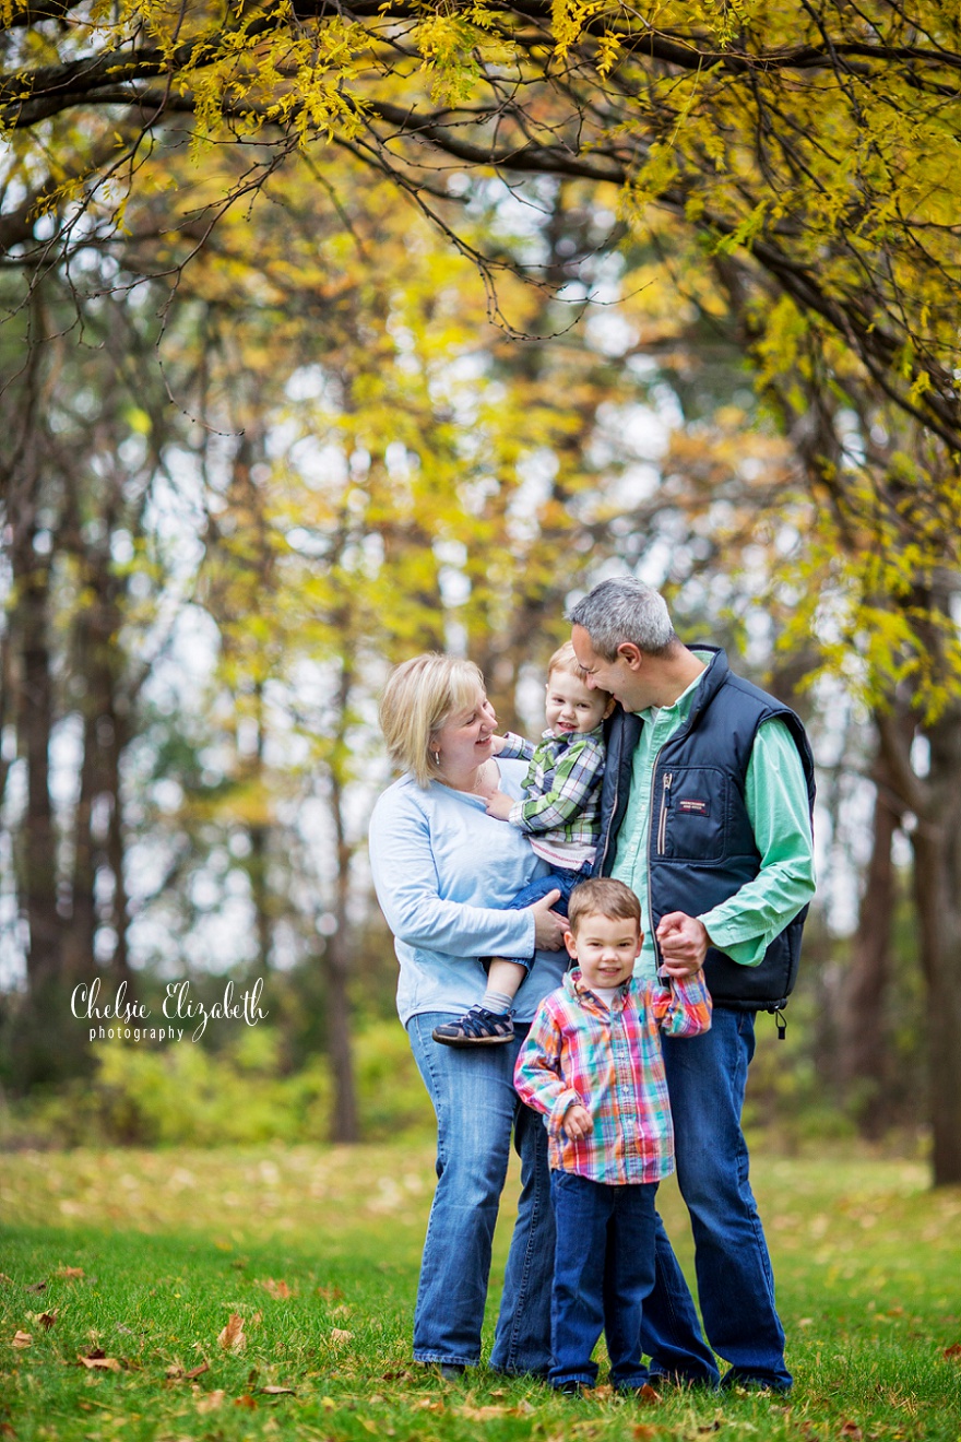
[[[596,1381],[604,1330],[615,1392],[647,1383],[644,1298],[654,1286],[654,1195],[674,1169],[660,1031],[710,1027],[703,972],[640,982],[641,908],[622,881],[594,877],[571,895],[568,952],[578,969],[540,1004],[514,1086],[545,1113],[558,1243],[550,1384]]]

